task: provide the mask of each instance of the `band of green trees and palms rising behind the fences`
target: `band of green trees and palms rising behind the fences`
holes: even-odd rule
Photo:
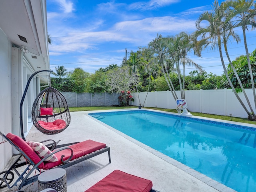
[[[248,52],[246,31],[256,28],[256,6],[254,0],[226,0],[218,3],[215,0],[212,10],[203,12],[196,20],[196,31],[192,34],[180,32],[174,36],[157,34],[147,47],[139,47],[136,52],[131,51],[127,60],[121,66],[110,64],[100,68],[94,74],[85,72],[82,68],[75,68],[66,72],[64,66],[58,66],[55,76],[63,90],[76,92],[148,92],[170,90],[174,100],[178,99],[176,91],[180,91],[181,98],[185,98],[184,90],[222,89],[231,88],[244,110],[251,119],[256,120],[252,106],[256,106],[255,51]],[[240,36],[237,28],[243,32],[246,56],[240,56],[232,61],[229,56],[228,43],[231,39],[239,43]],[[49,36],[50,37],[50,36]],[[223,74],[206,74],[202,67],[188,57],[194,52],[201,56],[202,50],[218,50]],[[228,62],[224,61],[224,56]],[[194,71],[185,75],[185,67],[193,66]],[[67,78],[62,78],[67,76]],[[56,84],[56,86],[58,86]],[[248,99],[245,88],[252,88],[254,105]],[[238,92],[246,98],[242,102]],[[248,107],[247,107],[248,106]]]

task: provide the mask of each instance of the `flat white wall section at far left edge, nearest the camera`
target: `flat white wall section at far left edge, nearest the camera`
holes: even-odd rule
[[[0,131],[12,132],[12,45],[0,29]],[[0,138],[2,142],[2,137]],[[12,156],[8,142],[0,144],[0,170]]]

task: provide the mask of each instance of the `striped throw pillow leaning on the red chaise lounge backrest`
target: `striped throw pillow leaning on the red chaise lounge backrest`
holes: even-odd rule
[[[49,154],[51,154],[52,152],[42,143],[39,142],[33,142],[33,141],[26,141],[26,143],[38,154],[38,156],[42,159],[46,156],[48,156]],[[46,160],[44,161],[48,161],[48,162],[56,162],[58,161],[58,158],[56,157],[55,154],[53,154],[52,156],[49,156],[48,158],[46,158]]]

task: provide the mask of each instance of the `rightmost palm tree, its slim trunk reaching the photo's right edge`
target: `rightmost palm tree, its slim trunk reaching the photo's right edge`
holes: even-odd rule
[[[254,86],[254,78],[252,74],[252,66],[250,62],[250,56],[248,52],[247,40],[246,40],[246,30],[248,30],[248,25],[252,26],[252,29],[256,28],[256,6],[254,0],[227,0],[225,2],[225,6],[228,8],[233,8],[238,12],[236,14],[234,22],[238,22],[234,27],[242,27],[243,30],[243,37],[244,37],[244,47],[246,51],[246,57],[248,62],[248,68],[250,73],[250,80],[252,84],[252,92],[254,96],[254,105],[256,106],[256,93],[255,93],[255,86]],[[242,87],[241,87],[242,88]]]

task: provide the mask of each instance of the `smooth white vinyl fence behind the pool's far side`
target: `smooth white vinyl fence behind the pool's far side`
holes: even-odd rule
[[[167,109],[175,109],[176,101],[174,100],[172,93],[170,91],[161,92],[148,92],[146,97],[146,92],[140,92],[139,98],[140,103],[143,104],[145,101],[145,107],[159,107]],[[180,91],[176,91],[178,98],[180,97]],[[246,94],[250,100],[252,108],[255,111],[254,99],[252,94],[252,89],[246,89]],[[244,94],[238,93],[245,106],[248,104],[245,100]],[[139,105],[138,94],[133,93],[134,102],[132,105]],[[232,116],[247,118],[248,115],[244,108],[237,100],[234,92],[231,89],[222,90],[187,90],[185,91],[185,99],[187,101],[188,110],[190,112],[200,112],[224,116]]]

